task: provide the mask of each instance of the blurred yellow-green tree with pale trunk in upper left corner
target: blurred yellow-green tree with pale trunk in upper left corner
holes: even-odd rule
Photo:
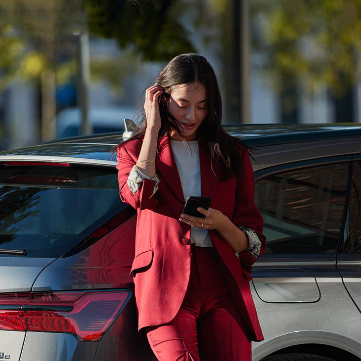
[[[86,26],[78,0],[1,0],[0,89],[11,80],[36,80],[42,97],[42,138],[54,136],[56,70],[73,68],[77,51],[74,32]],[[62,61],[67,60],[67,61]],[[69,71],[68,71],[69,73]]]

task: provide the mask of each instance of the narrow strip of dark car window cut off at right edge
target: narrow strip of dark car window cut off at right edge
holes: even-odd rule
[[[361,160],[353,162],[350,201],[341,253],[361,253]]]

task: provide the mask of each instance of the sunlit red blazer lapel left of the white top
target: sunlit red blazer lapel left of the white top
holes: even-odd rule
[[[167,181],[167,184],[172,189],[174,195],[184,204],[185,200],[181,178],[178,173],[169,135],[164,135],[159,141],[158,160],[156,165],[159,173]]]

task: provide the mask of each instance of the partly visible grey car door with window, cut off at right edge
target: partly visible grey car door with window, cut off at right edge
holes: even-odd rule
[[[361,310],[361,154],[352,162],[350,199],[348,202],[343,242],[337,254],[337,269],[350,297]]]

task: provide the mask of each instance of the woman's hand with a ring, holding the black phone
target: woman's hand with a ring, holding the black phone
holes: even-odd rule
[[[197,211],[204,214],[205,218],[189,216],[182,213],[179,220],[193,227],[218,230],[223,229],[227,221],[229,221],[228,218],[217,209],[209,208],[207,211],[204,208],[198,207]]]

